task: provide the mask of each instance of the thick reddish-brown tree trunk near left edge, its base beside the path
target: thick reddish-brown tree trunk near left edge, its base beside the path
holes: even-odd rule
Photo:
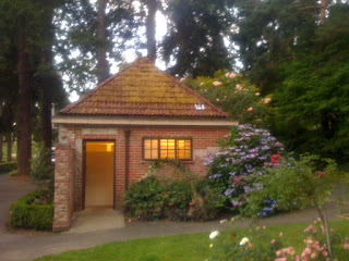
[[[25,23],[19,26],[19,108],[17,108],[17,173],[29,175],[32,156],[29,54],[26,50]]]

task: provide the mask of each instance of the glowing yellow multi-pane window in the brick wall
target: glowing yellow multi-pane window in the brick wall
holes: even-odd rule
[[[143,140],[143,159],[192,159],[191,139],[145,138]]]

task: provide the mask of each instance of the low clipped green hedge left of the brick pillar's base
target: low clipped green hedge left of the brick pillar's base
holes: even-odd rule
[[[14,201],[10,207],[10,225],[16,228],[37,231],[52,229],[53,195],[36,190]]]

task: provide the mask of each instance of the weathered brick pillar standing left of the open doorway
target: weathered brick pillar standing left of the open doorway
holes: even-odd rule
[[[74,150],[69,145],[56,147],[55,163],[55,232],[67,231],[71,225],[74,195]]]

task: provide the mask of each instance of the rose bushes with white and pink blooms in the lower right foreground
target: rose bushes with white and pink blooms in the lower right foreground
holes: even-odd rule
[[[209,238],[213,243],[212,261],[233,260],[233,261],[253,261],[253,260],[273,260],[273,261],[341,261],[348,260],[349,244],[348,237],[342,237],[329,229],[330,244],[333,250],[329,250],[326,244],[326,232],[321,219],[314,221],[305,229],[304,249],[300,253],[296,252],[292,246],[285,247],[282,244],[284,235],[280,232],[277,238],[268,234],[265,226],[255,226],[249,229],[243,237],[237,236],[234,227],[230,234],[229,240],[219,238],[219,232],[213,232]]]

